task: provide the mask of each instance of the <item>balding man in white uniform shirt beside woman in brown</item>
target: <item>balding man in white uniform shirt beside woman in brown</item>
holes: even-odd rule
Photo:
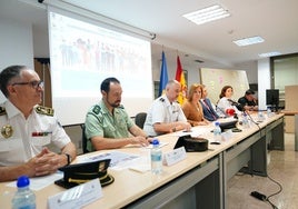
[[[166,94],[153,101],[143,125],[143,130],[148,136],[190,130],[191,126],[177,102],[180,88],[177,80],[170,80],[166,86]]]

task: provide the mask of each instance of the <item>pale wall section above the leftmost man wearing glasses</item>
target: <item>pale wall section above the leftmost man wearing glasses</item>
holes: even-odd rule
[[[0,28],[0,71],[12,64],[28,66],[33,69],[31,24],[1,18]],[[4,99],[0,92],[0,102]]]

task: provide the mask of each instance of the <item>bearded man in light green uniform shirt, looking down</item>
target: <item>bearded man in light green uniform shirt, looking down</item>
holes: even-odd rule
[[[127,145],[148,146],[146,133],[133,123],[120,104],[120,81],[107,78],[102,81],[100,90],[101,101],[91,107],[86,116],[87,150],[113,149]]]

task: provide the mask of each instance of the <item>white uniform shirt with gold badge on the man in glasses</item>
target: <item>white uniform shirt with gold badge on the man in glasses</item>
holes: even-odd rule
[[[51,108],[36,106],[26,119],[9,100],[0,107],[0,166],[24,163],[50,143],[62,149],[70,142]]]

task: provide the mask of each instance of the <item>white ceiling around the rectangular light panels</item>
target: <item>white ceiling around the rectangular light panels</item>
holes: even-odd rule
[[[182,53],[191,61],[217,62],[228,67],[258,60],[260,59],[258,54],[264,52],[279,51],[281,54],[298,52],[297,0],[63,0],[63,2],[155,33],[153,56],[161,57],[161,50],[166,49],[169,53]],[[221,4],[231,16],[201,26],[181,17],[215,3]],[[19,4],[17,0],[1,1],[0,16],[18,13],[24,19],[30,14],[30,11],[28,12],[30,7],[23,8]],[[11,12],[8,8],[13,8],[16,12]],[[30,17],[36,27],[47,21],[44,12],[38,12],[40,13]],[[262,37],[265,42],[247,47],[238,47],[232,42],[254,36]]]

